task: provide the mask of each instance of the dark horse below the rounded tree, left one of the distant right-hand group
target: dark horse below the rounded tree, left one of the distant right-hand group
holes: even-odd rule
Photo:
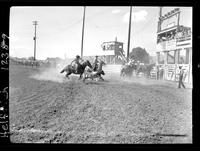
[[[135,63],[132,63],[130,65],[124,65],[121,68],[120,71],[120,76],[124,77],[124,76],[129,76],[131,77],[133,75],[133,71],[137,69],[137,65]]]

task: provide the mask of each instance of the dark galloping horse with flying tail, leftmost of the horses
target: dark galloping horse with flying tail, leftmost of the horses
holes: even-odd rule
[[[66,72],[66,77],[69,79],[69,75],[70,74],[79,74],[80,77],[79,77],[79,80],[82,78],[82,74],[84,73],[85,71],[85,68],[89,66],[90,68],[92,68],[92,65],[91,63],[89,62],[89,60],[86,60],[84,61],[82,64],[80,64],[80,66],[78,67],[77,69],[77,72],[76,70],[73,68],[72,65],[67,65],[60,73],[63,73],[63,72]]]

